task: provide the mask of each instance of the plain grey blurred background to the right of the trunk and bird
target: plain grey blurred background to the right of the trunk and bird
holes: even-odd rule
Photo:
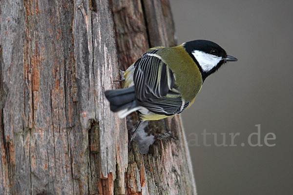
[[[170,3],[178,43],[208,39],[239,59],[209,76],[182,113],[198,194],[292,195],[293,1]],[[248,144],[257,124],[262,147]],[[229,133],[240,133],[237,146],[216,147],[213,136],[203,146],[204,130],[217,133],[218,143],[225,133],[228,145]],[[265,145],[267,133],[275,134],[268,141],[275,146]]]

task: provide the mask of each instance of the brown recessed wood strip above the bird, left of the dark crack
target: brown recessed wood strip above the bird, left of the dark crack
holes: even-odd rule
[[[149,48],[141,0],[111,0],[119,64],[126,69]],[[130,49],[131,48],[131,49]]]

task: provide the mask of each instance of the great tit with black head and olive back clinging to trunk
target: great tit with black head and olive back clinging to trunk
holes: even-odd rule
[[[105,97],[120,118],[134,111],[141,121],[170,117],[188,108],[204,80],[227,61],[237,59],[209,40],[154,47],[125,71],[124,89],[105,91]]]

